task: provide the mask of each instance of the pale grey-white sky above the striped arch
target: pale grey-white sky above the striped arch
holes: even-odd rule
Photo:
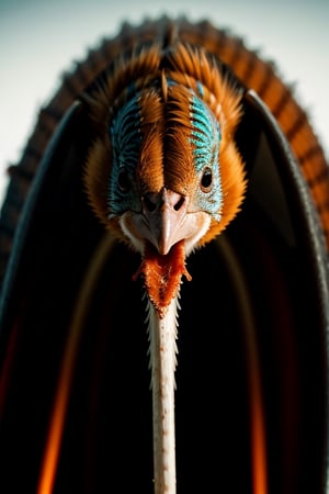
[[[0,200],[60,74],[124,20],[162,13],[230,27],[274,59],[329,157],[329,0],[0,0]]]

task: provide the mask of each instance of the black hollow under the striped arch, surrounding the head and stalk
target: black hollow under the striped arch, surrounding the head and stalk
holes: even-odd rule
[[[84,316],[55,492],[152,492],[148,344],[141,290],[131,280],[139,259],[109,243],[98,263],[103,228],[81,186],[89,136],[83,105],[73,104],[42,159],[3,283],[3,492],[35,490],[77,310]],[[193,282],[182,288],[178,490],[227,490],[235,479],[237,491],[251,493],[249,318],[271,492],[325,493],[328,274],[318,220],[284,137],[252,93],[237,139],[249,176],[245,209],[191,257]]]

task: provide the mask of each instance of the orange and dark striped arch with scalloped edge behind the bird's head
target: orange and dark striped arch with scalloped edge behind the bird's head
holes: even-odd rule
[[[31,181],[49,138],[66,110],[121,53],[132,50],[136,43],[143,46],[145,43],[159,38],[162,44],[166,44],[175,36],[188,43],[204,46],[227,64],[240,82],[257,91],[268,104],[300,166],[318,211],[329,250],[328,165],[307,114],[295,100],[293,90],[281,80],[272,63],[262,60],[257,52],[250,50],[241,38],[230,32],[218,30],[207,21],[190,23],[185,19],[171,21],[162,18],[158,21],[147,20],[139,26],[124,24],[115,37],[103,40],[99,46],[88,53],[83,61],[76,63],[71,71],[64,75],[58,91],[39,111],[34,132],[20,162],[9,170],[12,179],[0,218],[0,278],[7,266],[15,225]]]

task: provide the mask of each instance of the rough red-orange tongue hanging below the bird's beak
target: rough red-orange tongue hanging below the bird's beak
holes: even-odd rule
[[[191,280],[185,268],[184,240],[172,246],[166,256],[161,256],[147,243],[144,259],[133,279],[137,280],[139,276],[144,278],[148,297],[162,318],[170,302],[178,294],[183,274]]]

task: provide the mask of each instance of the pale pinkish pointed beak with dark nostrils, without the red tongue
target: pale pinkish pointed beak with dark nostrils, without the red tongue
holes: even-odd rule
[[[186,197],[163,188],[159,193],[147,193],[143,198],[143,215],[147,223],[147,239],[160,255],[186,237]]]

